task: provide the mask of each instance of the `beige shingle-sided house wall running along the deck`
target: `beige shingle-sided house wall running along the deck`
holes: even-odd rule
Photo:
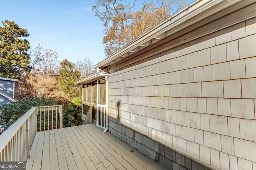
[[[109,131],[168,169],[256,168],[256,18],[109,75]]]

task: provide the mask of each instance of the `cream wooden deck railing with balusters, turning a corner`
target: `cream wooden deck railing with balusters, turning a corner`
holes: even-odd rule
[[[32,107],[0,135],[0,161],[25,162],[36,132],[57,128],[62,128],[62,106]]]

